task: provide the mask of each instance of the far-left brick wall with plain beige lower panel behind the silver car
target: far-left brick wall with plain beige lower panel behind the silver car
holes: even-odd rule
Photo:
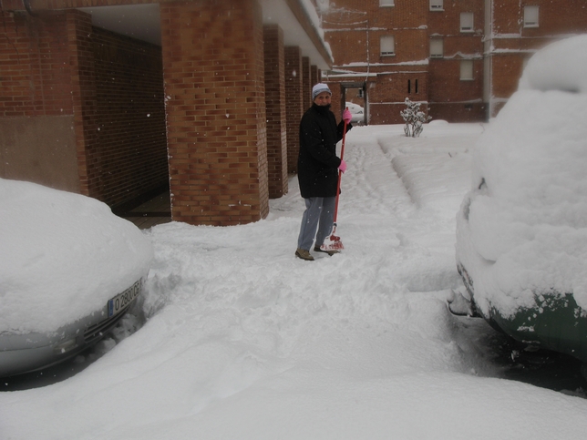
[[[0,176],[87,194],[79,185],[77,131],[71,129],[79,76],[69,25],[79,15],[1,14]]]

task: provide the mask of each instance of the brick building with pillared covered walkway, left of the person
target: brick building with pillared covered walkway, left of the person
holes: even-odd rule
[[[332,67],[315,1],[3,0],[0,177],[172,220],[263,219]]]

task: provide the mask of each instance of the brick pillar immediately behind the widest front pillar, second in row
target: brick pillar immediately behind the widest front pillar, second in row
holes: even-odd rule
[[[263,42],[269,198],[277,199],[287,194],[288,190],[285,55],[282,28],[277,25],[264,26]]]

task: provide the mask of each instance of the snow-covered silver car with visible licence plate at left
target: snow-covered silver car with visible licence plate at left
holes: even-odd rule
[[[0,377],[97,343],[149,273],[149,240],[98,200],[0,179],[0,225]]]

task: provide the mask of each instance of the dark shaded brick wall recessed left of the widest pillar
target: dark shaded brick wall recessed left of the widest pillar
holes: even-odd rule
[[[94,28],[102,200],[116,207],[168,184],[161,49]]]

